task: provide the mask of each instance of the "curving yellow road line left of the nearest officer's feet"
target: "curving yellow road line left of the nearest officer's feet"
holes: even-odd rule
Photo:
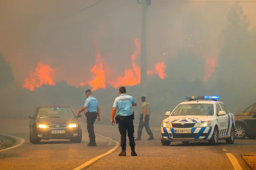
[[[102,135],[98,135],[98,134],[95,134],[95,135],[96,135],[96,136],[104,137],[104,138],[106,138],[106,139],[111,140],[112,142],[115,142],[115,143],[116,143],[115,147],[113,147],[112,149],[110,149],[110,150],[109,150],[108,152],[106,152],[106,153],[103,153],[103,154],[101,154],[101,155],[99,155],[99,156],[96,156],[96,157],[92,158],[91,160],[85,162],[84,164],[80,165],[79,167],[76,167],[76,168],[73,169],[73,170],[83,170],[84,168],[88,167],[89,165],[91,165],[91,164],[94,163],[95,161],[98,161],[98,160],[101,159],[102,157],[107,156],[107,155],[110,154],[110,153],[113,153],[113,152],[116,151],[116,149],[120,146],[120,143],[119,143],[119,142],[117,142],[117,141],[111,139],[110,137],[106,137],[106,136],[102,136]]]

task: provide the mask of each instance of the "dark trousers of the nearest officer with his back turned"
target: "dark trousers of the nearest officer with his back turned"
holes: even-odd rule
[[[119,132],[121,134],[121,148],[126,150],[126,136],[129,138],[129,145],[131,150],[135,150],[134,141],[134,125],[133,125],[133,115],[121,116],[121,120],[118,124]]]

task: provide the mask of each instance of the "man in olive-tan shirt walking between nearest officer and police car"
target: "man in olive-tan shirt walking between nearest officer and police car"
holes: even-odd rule
[[[148,102],[146,102],[146,97],[141,97],[141,115],[139,119],[139,125],[138,125],[138,136],[136,140],[141,140],[141,134],[142,129],[145,126],[146,132],[149,135],[149,138],[147,140],[154,140],[153,133],[149,127],[149,117],[150,117],[150,105]]]

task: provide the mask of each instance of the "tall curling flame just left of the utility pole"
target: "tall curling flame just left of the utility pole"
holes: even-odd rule
[[[135,47],[136,47],[136,50],[131,55],[133,69],[126,69],[125,76],[124,77],[119,76],[119,78],[117,79],[117,83],[115,83],[114,85],[113,85],[113,82],[112,83],[110,82],[110,85],[112,84],[115,88],[119,86],[125,86],[125,85],[133,86],[140,83],[140,67],[135,62],[136,57],[140,52],[140,44],[137,39],[135,39]]]

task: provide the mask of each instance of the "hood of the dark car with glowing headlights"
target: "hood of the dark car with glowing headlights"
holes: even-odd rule
[[[78,120],[75,118],[41,118],[37,119],[37,122],[46,125],[68,125],[78,123]]]

